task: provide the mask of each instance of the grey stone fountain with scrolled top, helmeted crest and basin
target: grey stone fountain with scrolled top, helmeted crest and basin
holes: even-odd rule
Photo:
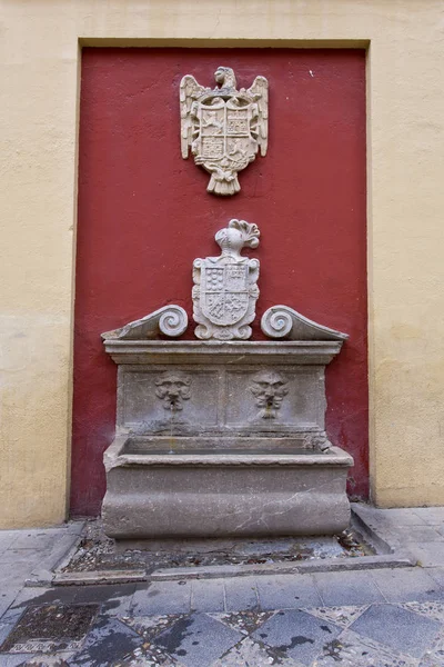
[[[286,306],[262,317],[255,225],[231,220],[193,263],[196,340],[167,306],[102,335],[118,365],[102,517],[117,539],[325,535],[350,521],[352,457],[325,432],[324,371],[345,334]]]

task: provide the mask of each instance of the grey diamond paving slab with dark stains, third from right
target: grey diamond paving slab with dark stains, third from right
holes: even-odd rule
[[[178,620],[154,639],[185,667],[208,667],[242,639],[243,635],[206,614]]]

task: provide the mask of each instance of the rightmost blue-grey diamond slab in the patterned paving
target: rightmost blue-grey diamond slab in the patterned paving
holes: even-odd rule
[[[372,605],[350,629],[420,658],[435,640],[442,625],[398,605]]]

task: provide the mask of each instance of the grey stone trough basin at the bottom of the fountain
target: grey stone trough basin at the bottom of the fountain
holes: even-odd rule
[[[102,518],[117,539],[325,535],[350,522],[353,459],[289,442],[261,448],[165,448],[168,438],[119,436],[105,452]],[[206,442],[208,445],[208,442]]]

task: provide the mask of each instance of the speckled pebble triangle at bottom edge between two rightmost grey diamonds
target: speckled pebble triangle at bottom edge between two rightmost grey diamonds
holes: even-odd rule
[[[363,639],[352,630],[324,645],[315,660],[316,667],[417,667],[417,659],[387,648],[369,637]]]

